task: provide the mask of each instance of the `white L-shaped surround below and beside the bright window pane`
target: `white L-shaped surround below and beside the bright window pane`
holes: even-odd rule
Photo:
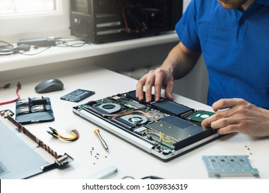
[[[24,38],[69,36],[69,0],[57,2],[59,10],[52,13],[0,16],[0,40],[15,43]]]

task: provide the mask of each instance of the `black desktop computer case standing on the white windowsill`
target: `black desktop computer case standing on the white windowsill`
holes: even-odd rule
[[[182,8],[183,0],[70,0],[71,35],[107,43],[172,32]]]

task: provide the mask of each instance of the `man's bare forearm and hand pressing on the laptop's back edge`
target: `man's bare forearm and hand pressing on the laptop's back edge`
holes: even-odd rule
[[[137,99],[144,99],[143,87],[146,91],[146,102],[161,99],[161,88],[165,89],[165,97],[173,101],[172,90],[174,88],[174,78],[181,79],[186,76],[195,66],[200,57],[200,52],[188,50],[182,42],[179,42],[168,54],[168,57],[161,67],[150,70],[137,83]],[[152,88],[155,88],[155,99],[152,98]]]

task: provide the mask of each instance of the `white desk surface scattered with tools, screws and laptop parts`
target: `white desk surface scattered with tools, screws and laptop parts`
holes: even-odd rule
[[[61,79],[64,83],[64,90],[47,94],[34,92],[35,85],[49,78]],[[252,167],[259,170],[261,179],[269,179],[269,138],[256,139],[244,134],[230,134],[172,161],[163,163],[99,128],[110,149],[109,153],[106,152],[97,136],[94,136],[94,130],[97,129],[97,126],[75,115],[72,112],[72,107],[90,100],[134,90],[137,83],[135,79],[103,68],[88,66],[87,68],[43,74],[38,77],[14,79],[10,82],[12,83],[10,88],[1,90],[1,101],[10,101],[16,98],[15,91],[18,81],[22,85],[21,90],[19,90],[21,99],[34,96],[50,97],[55,116],[55,121],[25,125],[26,128],[53,150],[60,154],[66,152],[74,158],[68,167],[61,170],[50,170],[33,176],[32,179],[86,179],[91,174],[110,165],[116,166],[119,170],[108,177],[111,179],[121,179],[124,176],[132,176],[135,179],[141,179],[145,176],[160,176],[164,179],[208,179],[208,172],[202,161],[203,155],[249,155],[250,163]],[[80,103],[60,99],[60,96],[77,88],[94,90],[96,94]],[[207,105],[186,99],[183,96],[175,96],[175,101],[197,110],[212,110]],[[0,110],[10,109],[14,111],[14,108],[14,103],[0,106]],[[46,132],[49,130],[49,126],[56,128],[61,134],[68,134],[69,130],[76,128],[79,130],[80,138],[70,143],[54,139]],[[253,179],[254,177],[246,178]]]

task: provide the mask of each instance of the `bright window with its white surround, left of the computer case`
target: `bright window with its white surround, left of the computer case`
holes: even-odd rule
[[[0,0],[1,40],[68,36],[69,7],[66,0]]]

